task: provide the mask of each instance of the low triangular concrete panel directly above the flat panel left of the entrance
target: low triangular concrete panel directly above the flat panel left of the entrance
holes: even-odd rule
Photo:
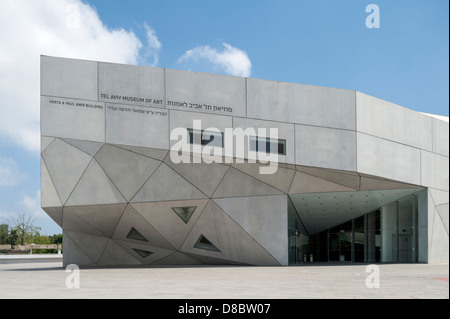
[[[283,193],[233,167],[223,177],[212,198],[282,195]]]

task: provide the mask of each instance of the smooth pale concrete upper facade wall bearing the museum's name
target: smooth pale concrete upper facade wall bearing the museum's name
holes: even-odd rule
[[[169,149],[170,130],[197,118],[203,129],[277,127],[280,162],[448,190],[448,123],[363,93],[41,57],[43,136]]]

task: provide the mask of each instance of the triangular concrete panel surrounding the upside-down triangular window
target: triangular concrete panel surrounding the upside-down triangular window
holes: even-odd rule
[[[197,199],[173,202],[134,203],[131,205],[176,249],[179,249],[207,202],[207,199]],[[195,206],[196,208],[187,223],[184,223],[172,210],[172,207],[190,206]]]

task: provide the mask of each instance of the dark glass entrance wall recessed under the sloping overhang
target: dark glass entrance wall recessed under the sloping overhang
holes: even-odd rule
[[[426,211],[419,214],[419,207],[424,206],[419,206],[419,198],[424,191],[312,235],[307,233],[289,200],[289,263],[419,262],[418,221],[426,215]]]

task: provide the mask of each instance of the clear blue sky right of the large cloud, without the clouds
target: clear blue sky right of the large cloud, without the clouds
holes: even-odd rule
[[[448,1],[90,1],[112,28],[162,43],[158,66],[188,49],[222,43],[245,50],[251,77],[358,90],[402,106],[448,115]],[[380,28],[368,29],[368,4]],[[215,70],[221,73],[220,70]]]

